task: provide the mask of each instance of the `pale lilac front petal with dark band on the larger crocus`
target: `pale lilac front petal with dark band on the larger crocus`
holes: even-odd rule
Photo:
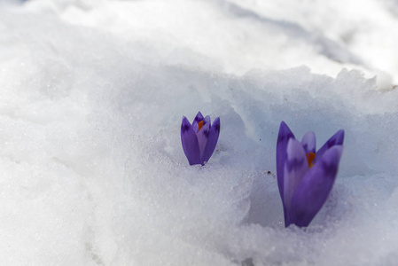
[[[286,211],[292,202],[293,194],[299,186],[302,178],[308,172],[308,162],[306,153],[300,142],[294,138],[290,138],[287,143],[287,158],[285,161],[284,172],[284,201]]]

